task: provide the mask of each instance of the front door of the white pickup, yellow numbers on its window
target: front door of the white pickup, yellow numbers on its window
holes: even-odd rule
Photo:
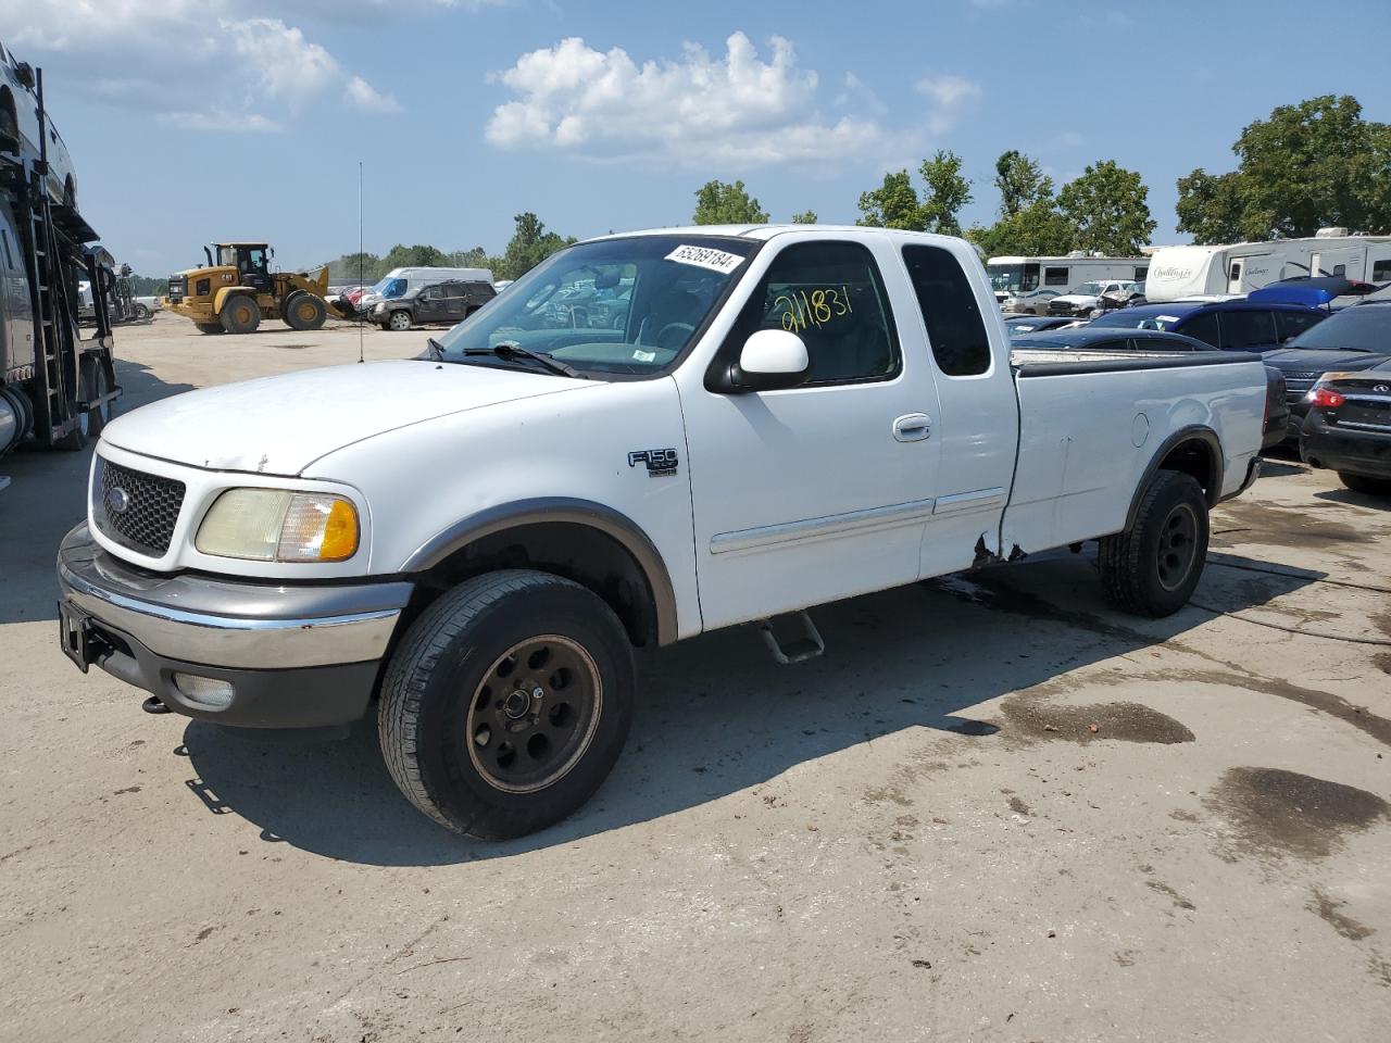
[[[811,374],[743,395],[676,374],[707,629],[911,583],[936,492],[936,387],[917,323],[896,325],[917,306],[892,245],[789,236],[755,263],[709,371],[787,330]]]

